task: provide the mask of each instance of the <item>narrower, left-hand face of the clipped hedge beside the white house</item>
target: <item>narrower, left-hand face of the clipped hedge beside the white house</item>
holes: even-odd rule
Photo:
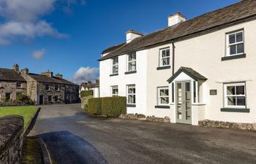
[[[88,106],[89,114],[102,114],[102,98],[90,98]]]

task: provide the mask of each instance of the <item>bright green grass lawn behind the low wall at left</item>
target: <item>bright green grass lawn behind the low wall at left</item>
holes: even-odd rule
[[[0,117],[13,114],[23,116],[24,127],[26,127],[37,109],[36,106],[0,106]]]

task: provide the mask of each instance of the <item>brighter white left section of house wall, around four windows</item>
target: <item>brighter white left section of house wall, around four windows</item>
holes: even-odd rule
[[[99,62],[99,95],[106,97],[111,95],[111,86],[118,85],[118,95],[127,96],[127,85],[136,87],[136,107],[127,107],[127,113],[146,114],[146,69],[147,50],[136,52],[137,73],[124,74],[127,71],[127,55],[118,57],[118,76],[110,77],[111,59]]]

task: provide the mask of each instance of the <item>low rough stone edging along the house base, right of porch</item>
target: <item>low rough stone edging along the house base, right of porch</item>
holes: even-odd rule
[[[256,123],[237,123],[237,122],[223,122],[214,120],[202,120],[198,122],[199,126],[210,128],[233,128],[240,130],[256,131]]]

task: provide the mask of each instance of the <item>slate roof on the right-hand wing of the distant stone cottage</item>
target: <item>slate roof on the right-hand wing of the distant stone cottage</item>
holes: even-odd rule
[[[64,84],[64,85],[75,85],[72,82],[67,81],[67,79],[59,79],[57,77],[48,77],[42,74],[29,74],[29,77],[35,79],[37,82],[48,82],[48,83],[56,83],[56,84]]]

